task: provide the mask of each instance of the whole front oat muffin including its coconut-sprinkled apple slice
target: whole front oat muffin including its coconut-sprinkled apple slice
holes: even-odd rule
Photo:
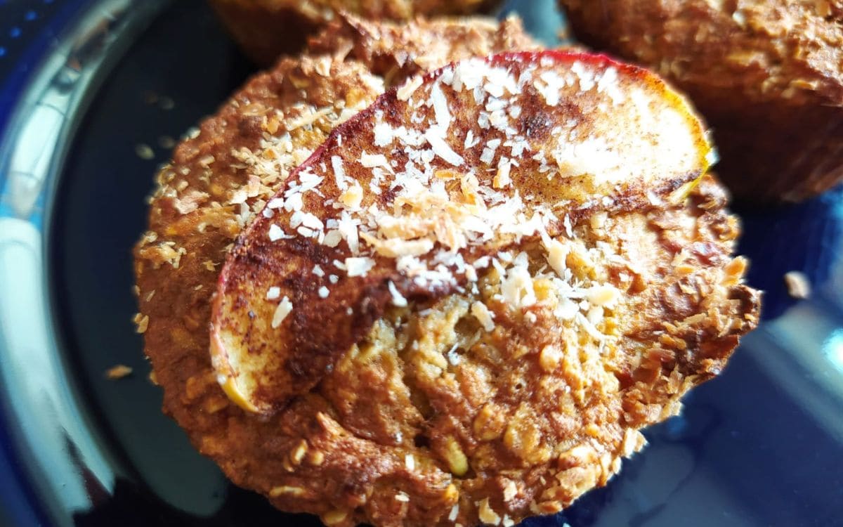
[[[511,36],[496,40],[503,34]],[[524,77],[521,113],[495,101],[511,98],[498,84],[513,84],[473,61],[466,73],[485,73],[474,81],[469,73],[467,91],[451,78],[434,94],[431,78],[394,73],[402,84],[379,99],[387,126],[375,132],[364,121],[378,119],[376,110],[352,116],[384,90],[358,61],[372,61],[359,50],[377,46],[355,40],[366,31],[350,35],[347,51],[282,60],[253,78],[158,175],[135,255],[137,323],[164,411],[235,483],[328,525],[511,525],[556,512],[605,484],[622,457],[642,448],[640,428],[679,411],[681,395],[718,374],[757,322],[758,294],[741,285],[745,262],[732,257],[737,221],[722,187],[702,175],[709,150],[701,127],[646,73],[604,58],[546,56],[541,64],[521,55],[497,67],[539,68],[530,73],[538,80]],[[514,38],[506,25],[479,35]],[[453,50],[448,58],[464,58],[461,43]],[[406,64],[396,51],[389,60],[379,51],[384,60],[371,67]],[[627,115],[613,97],[630,86],[642,89],[642,108],[674,109],[674,135],[687,140],[673,144],[683,146],[677,157],[648,158],[662,152],[658,145],[638,152],[635,137],[609,137],[599,128],[609,123],[588,119],[609,108]],[[569,89],[578,106],[566,104]],[[560,137],[557,125],[577,129],[556,119],[587,103],[580,119],[594,124],[581,132],[600,130],[657,169],[597,180],[582,172],[594,159],[588,148],[538,157],[541,144]],[[329,137],[344,121],[344,132]],[[422,139],[410,133],[437,127],[439,135]],[[456,134],[464,134],[459,143]],[[413,183],[411,156],[430,185]],[[314,179],[295,169],[301,164],[324,179],[308,189]],[[601,165],[606,174],[613,168]],[[362,221],[372,203],[388,212],[374,227]],[[477,214],[498,226],[491,239],[472,223]],[[452,259],[448,247],[459,247]],[[400,258],[405,267],[395,274]],[[226,284],[244,287],[231,295]],[[236,325],[243,320],[254,320],[246,332]],[[225,343],[212,365],[212,322],[215,337],[249,333],[264,347]],[[288,338],[304,327],[309,333]],[[288,341],[308,346],[282,353],[298,360],[276,369],[290,375],[288,386],[237,382],[252,358],[272,357],[264,351]],[[311,353],[311,341],[325,353]]]

